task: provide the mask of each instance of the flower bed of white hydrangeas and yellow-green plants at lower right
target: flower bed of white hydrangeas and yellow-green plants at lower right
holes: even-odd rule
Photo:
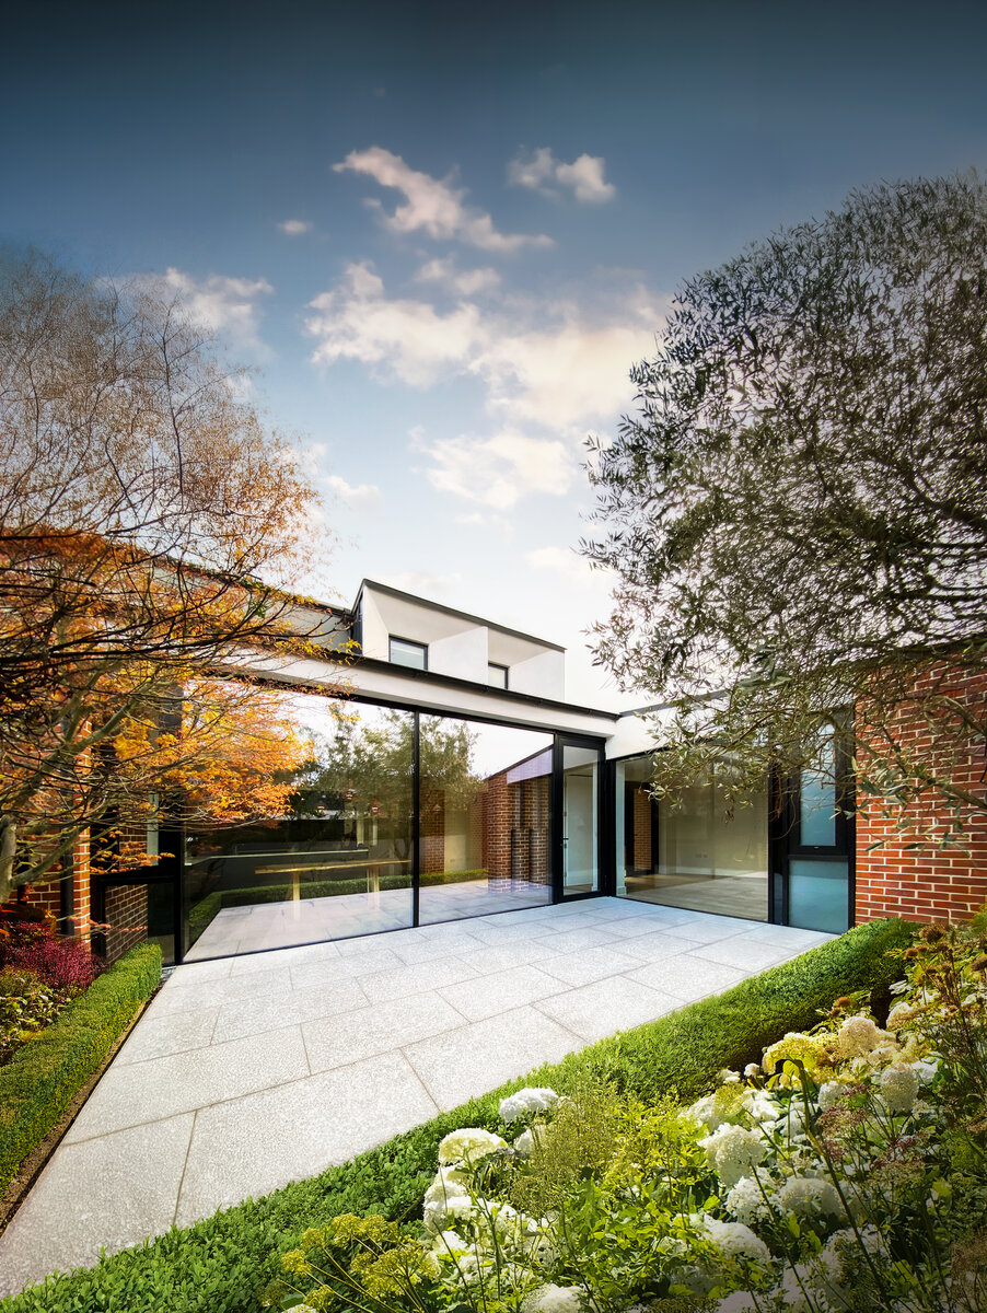
[[[986,931],[927,927],[885,1025],[844,995],[690,1106],[518,1091],[444,1137],[420,1222],[308,1229],[262,1305],[982,1313]]]

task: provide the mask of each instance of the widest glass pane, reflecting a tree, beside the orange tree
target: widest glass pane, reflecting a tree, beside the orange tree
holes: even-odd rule
[[[188,838],[188,961],[411,924],[412,713],[293,710],[312,765],[286,811]]]

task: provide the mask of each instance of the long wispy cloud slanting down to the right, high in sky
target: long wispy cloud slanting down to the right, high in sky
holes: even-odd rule
[[[350,151],[345,160],[333,164],[340,173],[352,171],[366,173],[381,186],[391,186],[404,194],[404,205],[394,214],[386,214],[383,222],[394,232],[425,232],[437,240],[465,242],[482,251],[496,251],[509,255],[522,247],[550,247],[551,238],[539,234],[528,236],[520,232],[497,232],[490,214],[463,204],[466,192],[454,188],[449,181],[441,181],[429,173],[411,168],[400,155],[371,146],[366,151]],[[379,207],[379,201],[369,202]]]

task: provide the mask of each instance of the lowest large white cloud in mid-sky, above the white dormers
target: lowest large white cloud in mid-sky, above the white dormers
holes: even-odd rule
[[[572,453],[563,442],[514,429],[492,437],[440,439],[424,450],[434,461],[428,470],[433,487],[496,511],[509,511],[532,492],[559,495],[575,475]]]

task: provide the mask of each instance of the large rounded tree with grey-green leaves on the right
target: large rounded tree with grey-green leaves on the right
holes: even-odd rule
[[[585,550],[620,579],[598,659],[672,704],[659,783],[763,785],[836,717],[861,792],[956,836],[987,811],[984,183],[860,190],[690,278],[633,378]]]

